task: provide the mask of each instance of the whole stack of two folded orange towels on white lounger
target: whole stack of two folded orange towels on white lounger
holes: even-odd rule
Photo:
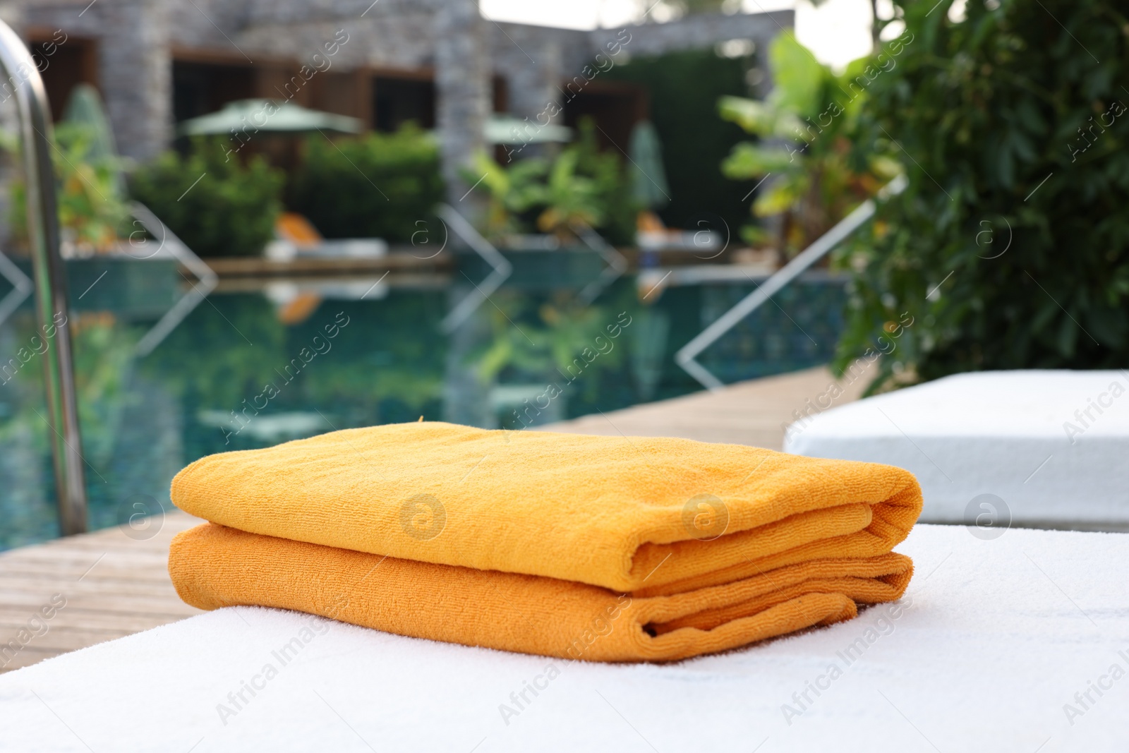
[[[298,610],[563,658],[672,660],[899,598],[901,469],[738,445],[348,429],[201,458],[168,570],[205,610]]]

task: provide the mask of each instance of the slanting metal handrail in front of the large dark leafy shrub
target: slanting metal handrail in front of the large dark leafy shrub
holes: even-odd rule
[[[884,201],[889,196],[896,195],[905,190],[907,180],[904,175],[899,175],[878,191],[877,199]],[[681,366],[686,374],[698,379],[703,387],[710,391],[718,391],[725,387],[725,383],[714,376],[709,369],[698,362],[698,356],[717,342],[718,338],[732,330],[743,318],[752,314],[768,301],[786,284],[795,280],[804,270],[820,261],[828,253],[838,246],[843,238],[848,237],[858,228],[874,217],[876,204],[873,199],[867,199],[859,204],[855,211],[839,220],[839,222],[812,242],[812,245],[802,251],[795,259],[781,266],[768,280],[751,294],[738,300],[733,308],[721,314],[708,327],[684,344],[674,354],[674,361]]]

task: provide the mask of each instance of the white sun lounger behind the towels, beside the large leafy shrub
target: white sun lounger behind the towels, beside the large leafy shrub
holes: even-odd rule
[[[931,523],[1129,525],[1129,374],[961,374],[839,408],[813,395],[785,452],[889,463]]]

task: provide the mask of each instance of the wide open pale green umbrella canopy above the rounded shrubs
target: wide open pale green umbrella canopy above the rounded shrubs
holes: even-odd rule
[[[356,119],[333,113],[308,110],[292,102],[275,99],[238,99],[224,105],[219,112],[193,117],[181,123],[181,135],[216,135],[236,133],[304,133],[333,131],[360,133],[365,124]]]

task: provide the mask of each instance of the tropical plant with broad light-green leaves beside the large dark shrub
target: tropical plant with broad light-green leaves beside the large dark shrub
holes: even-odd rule
[[[780,216],[776,237],[760,227],[746,227],[744,235],[755,245],[774,243],[790,256],[875,194],[900,167],[889,157],[851,148],[865,87],[873,80],[866,71],[881,69],[861,59],[835,75],[790,33],[773,41],[769,60],[774,88],[767,99],[719,102],[724,119],[761,139],[738,143],[723,172],[738,180],[771,177],[752,211],[762,218]]]

